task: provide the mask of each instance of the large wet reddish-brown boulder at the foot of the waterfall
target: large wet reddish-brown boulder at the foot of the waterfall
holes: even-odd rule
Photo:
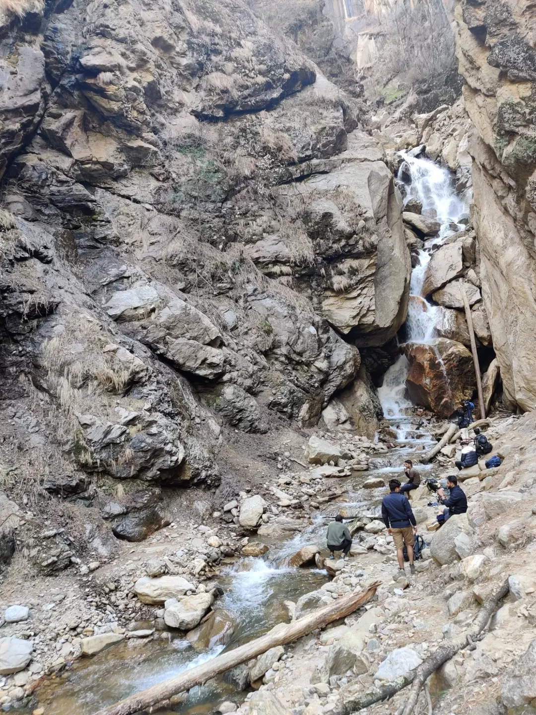
[[[455,340],[437,338],[427,343],[408,342],[410,362],[406,385],[410,398],[440,417],[452,415],[476,388],[472,355]]]

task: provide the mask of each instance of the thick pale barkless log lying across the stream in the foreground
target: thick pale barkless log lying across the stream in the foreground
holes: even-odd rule
[[[260,638],[255,638],[254,641],[244,646],[239,646],[232,651],[227,651],[221,656],[217,656],[212,661],[185,671],[174,678],[170,678],[159,685],[155,685],[147,690],[142,690],[136,695],[121,700],[115,705],[110,705],[107,708],[99,710],[94,715],[132,715],[140,710],[147,710],[155,703],[159,703],[171,698],[178,693],[188,691],[197,685],[203,685],[211,678],[224,673],[227,670],[236,668],[242,663],[249,661],[256,656],[260,656],[269,649],[275,646],[283,646],[287,643],[296,641],[297,638],[307,636],[308,633],[314,631],[315,628],[324,628],[327,623],[337,621],[339,618],[349,616],[368,603],[375,595],[380,581],[376,581],[368,586],[366,591],[359,593],[348,593],[347,596],[338,598],[337,601],[329,603],[329,606],[318,608],[313,613],[309,613],[304,618],[299,618],[298,621],[289,623],[287,626],[280,628],[272,628],[272,631],[266,633]]]

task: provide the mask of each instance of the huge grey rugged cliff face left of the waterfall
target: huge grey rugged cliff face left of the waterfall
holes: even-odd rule
[[[402,325],[411,266],[352,100],[234,0],[1,32],[4,464],[214,483],[222,428],[314,425],[352,385],[374,430],[357,345]]]

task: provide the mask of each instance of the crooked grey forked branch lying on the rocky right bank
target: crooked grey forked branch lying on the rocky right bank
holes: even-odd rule
[[[458,651],[461,651],[465,646],[472,646],[472,641],[476,640],[480,633],[487,626],[487,622],[492,617],[502,598],[505,598],[510,591],[508,579],[494,593],[494,595],[482,606],[480,613],[472,628],[469,628],[465,633],[462,633],[458,638],[448,641],[445,645],[441,645],[430,658],[423,661],[415,671],[401,676],[396,680],[386,683],[383,686],[373,686],[366,692],[356,692],[356,686],[345,686],[339,691],[339,704],[332,711],[332,715],[352,715],[358,711],[367,708],[374,703],[379,703],[401,691],[406,686],[412,684],[410,695],[402,706],[397,710],[397,715],[411,715],[413,709],[417,705],[420,690],[424,686],[428,678],[444,663],[453,658]]]

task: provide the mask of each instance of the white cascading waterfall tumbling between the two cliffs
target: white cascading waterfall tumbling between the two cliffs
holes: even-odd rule
[[[432,209],[441,224],[439,235],[428,239],[425,247],[419,251],[419,263],[412,270],[410,303],[407,311],[408,341],[429,342],[436,336],[442,310],[438,305],[431,305],[422,295],[427,265],[435,248],[442,245],[448,236],[465,228],[464,225],[459,224],[459,221],[467,212],[470,197],[463,195],[460,197],[455,193],[453,177],[448,169],[440,167],[430,159],[417,159],[407,152],[399,152],[399,154],[403,161],[397,178],[407,186],[405,204],[410,199],[418,199],[422,203],[423,214]],[[408,177],[410,177],[409,184]],[[436,354],[442,365],[439,353]],[[403,417],[412,408],[412,403],[406,397],[406,378],[409,368],[407,358],[401,355],[387,370],[382,387],[378,388],[379,400],[387,418]],[[447,378],[446,372],[445,378]],[[399,438],[403,437],[402,431],[399,430]]]

